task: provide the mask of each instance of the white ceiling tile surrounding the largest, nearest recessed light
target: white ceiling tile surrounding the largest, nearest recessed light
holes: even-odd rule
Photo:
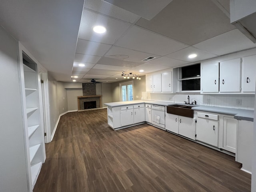
[[[106,32],[95,33],[94,26],[105,26]],[[131,24],[114,18],[84,9],[80,24],[78,38],[94,42],[114,44],[114,42],[128,29]]]

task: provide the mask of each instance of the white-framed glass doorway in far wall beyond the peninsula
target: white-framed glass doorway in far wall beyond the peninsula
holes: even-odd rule
[[[120,88],[120,101],[133,100],[133,81],[120,83],[119,88]]]

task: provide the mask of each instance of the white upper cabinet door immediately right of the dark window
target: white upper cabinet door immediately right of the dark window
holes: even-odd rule
[[[202,67],[202,92],[219,92],[219,63],[201,64]]]

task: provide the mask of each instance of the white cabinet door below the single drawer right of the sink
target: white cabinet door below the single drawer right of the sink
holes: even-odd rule
[[[196,140],[218,147],[218,121],[198,118]]]

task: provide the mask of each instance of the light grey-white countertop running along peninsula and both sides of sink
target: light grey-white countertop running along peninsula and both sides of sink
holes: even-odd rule
[[[147,103],[147,104],[152,104],[152,105],[160,105],[160,106],[168,106],[171,104],[180,104],[180,103],[154,101],[154,100],[134,100],[134,101],[112,102],[112,103],[104,103],[104,104],[109,107],[119,107],[119,106],[142,104],[142,103],[145,103],[145,104]],[[205,106],[205,105],[195,106],[192,109],[198,110],[198,111],[234,115],[234,118],[237,120],[246,120],[246,121],[253,122],[253,118],[254,118],[254,110],[226,108],[226,107],[214,107],[214,106]]]

